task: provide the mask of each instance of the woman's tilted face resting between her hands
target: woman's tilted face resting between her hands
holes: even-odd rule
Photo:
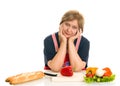
[[[61,27],[62,33],[66,38],[76,35],[79,28],[77,20],[65,21],[62,23]]]

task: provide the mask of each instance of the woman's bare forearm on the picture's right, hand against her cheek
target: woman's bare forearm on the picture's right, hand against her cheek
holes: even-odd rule
[[[82,61],[74,45],[74,40],[78,38],[80,35],[81,35],[81,31],[78,31],[75,36],[69,38],[68,40],[69,59],[70,59],[70,64],[73,67],[74,71],[81,71],[86,66],[86,62]]]

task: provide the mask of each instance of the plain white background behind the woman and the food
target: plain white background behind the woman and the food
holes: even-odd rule
[[[71,9],[85,17],[89,66],[108,66],[119,73],[119,4],[119,0],[1,0],[0,75],[43,70],[43,40],[58,31],[61,17]]]

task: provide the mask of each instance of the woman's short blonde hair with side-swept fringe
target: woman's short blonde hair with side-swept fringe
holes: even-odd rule
[[[78,21],[79,29],[81,29],[83,32],[84,18],[82,16],[82,14],[80,14],[76,10],[70,10],[70,11],[66,12],[62,17],[60,24],[62,24],[65,21],[72,21],[75,19]]]

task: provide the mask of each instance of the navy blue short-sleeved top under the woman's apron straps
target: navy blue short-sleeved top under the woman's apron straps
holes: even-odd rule
[[[58,39],[58,32],[55,33],[58,47],[60,47],[60,42]],[[74,44],[76,45],[77,39],[75,39]],[[81,37],[80,45],[78,48],[78,54],[81,57],[83,61],[86,62],[86,67],[88,64],[88,57],[89,57],[89,48],[90,48],[90,42],[88,39],[86,39],[84,36]],[[57,52],[55,51],[52,35],[47,36],[44,39],[44,61],[45,66],[48,66],[47,63],[49,60],[51,60]],[[86,68],[85,67],[85,68]]]

